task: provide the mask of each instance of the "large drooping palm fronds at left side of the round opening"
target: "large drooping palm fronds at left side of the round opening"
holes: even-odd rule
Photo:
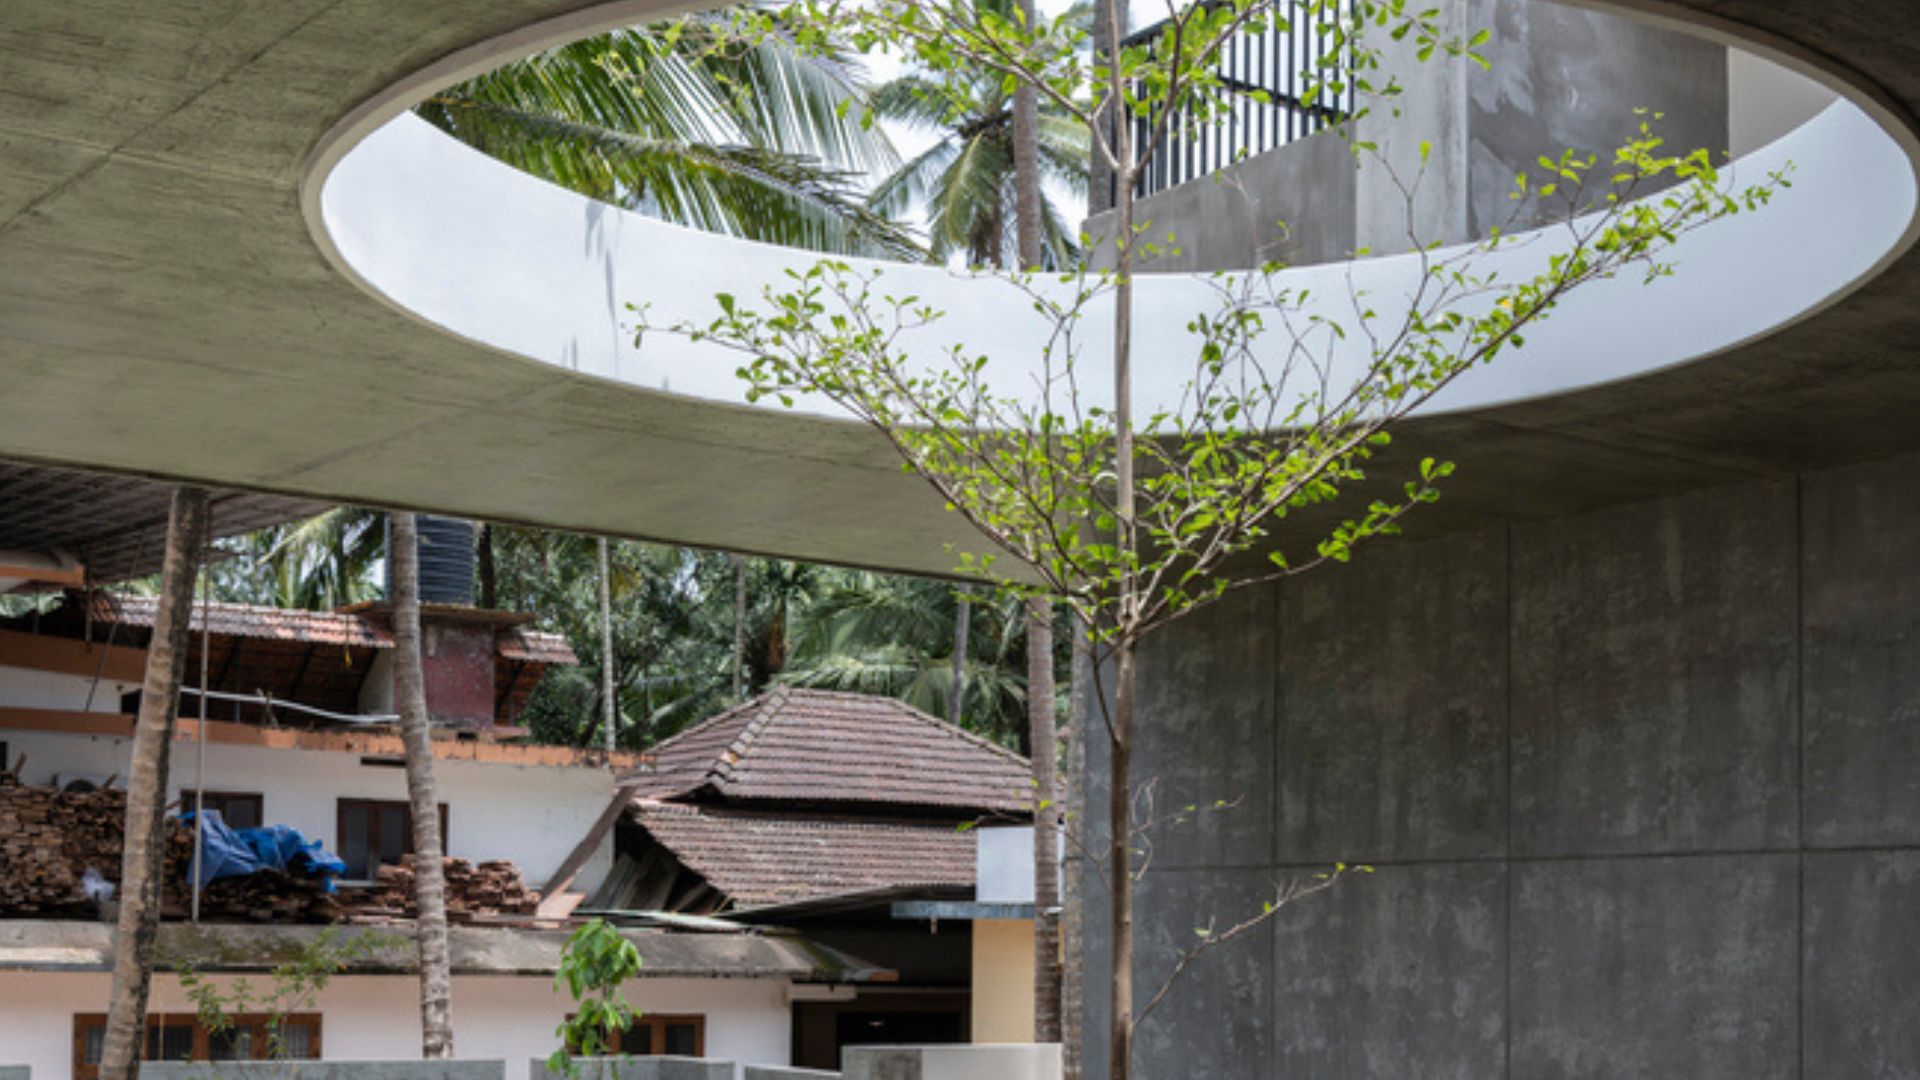
[[[924,258],[860,198],[899,156],[860,117],[860,69],[689,15],[551,48],[449,86],[419,113],[589,198],[835,254]]]

